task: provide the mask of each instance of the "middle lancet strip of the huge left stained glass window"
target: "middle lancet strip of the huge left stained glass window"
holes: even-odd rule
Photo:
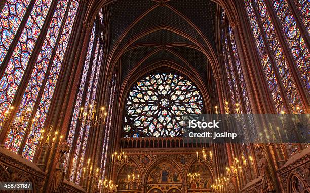
[[[0,121],[4,119],[4,112],[9,108],[15,97],[51,3],[52,0],[46,0],[37,1],[34,4],[5,72],[1,77],[0,85],[2,88],[0,95],[2,97],[0,112],[2,114],[0,115]]]

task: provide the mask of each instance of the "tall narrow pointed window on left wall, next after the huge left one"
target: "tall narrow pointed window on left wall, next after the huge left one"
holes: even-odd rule
[[[101,12],[102,10],[100,10]],[[102,16],[102,15],[101,15]],[[83,106],[89,112],[95,106],[98,92],[100,73],[103,70],[103,18],[97,17],[91,30],[90,41],[80,79],[80,86],[76,95],[71,124],[67,141],[71,147],[66,155],[65,165],[70,181],[79,184],[83,167],[88,161],[87,152],[91,127],[84,121],[79,121],[79,111]],[[90,117],[87,117],[87,119]]]

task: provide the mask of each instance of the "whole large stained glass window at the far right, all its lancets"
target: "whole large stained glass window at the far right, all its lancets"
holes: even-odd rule
[[[294,2],[244,0],[262,71],[277,113],[303,113],[300,93],[310,89],[309,51],[303,37],[308,33],[304,30],[307,22],[304,19],[299,21],[308,8],[302,1],[299,1],[298,9],[290,7]],[[297,77],[293,76],[295,73]],[[304,88],[297,87],[300,82]]]

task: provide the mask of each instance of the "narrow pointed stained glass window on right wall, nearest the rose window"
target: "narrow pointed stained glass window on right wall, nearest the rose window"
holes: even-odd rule
[[[255,139],[257,137],[253,136],[256,133],[254,132],[255,124],[234,33],[228,24],[228,19],[225,17],[225,10],[222,11],[221,42],[225,67],[224,77],[227,80],[226,85],[228,87],[227,100],[231,102],[232,113],[248,114],[246,117],[242,117],[246,121],[243,121],[243,131],[239,131],[239,135],[245,136],[244,142],[251,141],[250,138]],[[247,126],[247,124],[250,126]],[[253,131],[248,131],[247,128],[251,128]]]

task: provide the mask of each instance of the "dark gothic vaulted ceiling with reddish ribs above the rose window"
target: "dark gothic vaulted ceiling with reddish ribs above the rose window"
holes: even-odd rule
[[[220,6],[210,0],[117,0],[107,5],[110,56],[122,81],[153,63],[169,61],[195,70],[204,83],[216,56]],[[117,59],[115,59],[117,58]]]

